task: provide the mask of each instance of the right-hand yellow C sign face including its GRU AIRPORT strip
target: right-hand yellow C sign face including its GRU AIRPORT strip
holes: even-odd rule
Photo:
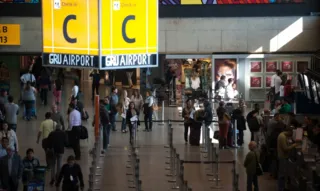
[[[102,0],[100,69],[158,66],[158,0]]]

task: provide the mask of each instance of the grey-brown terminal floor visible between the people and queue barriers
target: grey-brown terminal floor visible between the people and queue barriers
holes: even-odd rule
[[[12,74],[11,82],[11,94],[15,97],[15,102],[17,102],[19,97],[19,82],[18,74]],[[16,77],[15,77],[16,76]],[[66,121],[66,110],[68,98],[71,93],[71,81],[66,81],[66,85],[63,87],[63,100],[61,104],[61,113],[64,115],[64,120]],[[91,126],[94,107],[91,101],[91,84],[89,82],[82,82],[81,90],[83,92],[82,102],[84,103],[85,109],[88,111],[90,118],[83,125],[89,130],[89,139],[81,141],[81,152],[82,157],[78,163],[82,167],[82,172],[84,174],[85,190],[88,190],[88,176],[89,167],[91,166],[92,156],[89,154],[90,149],[94,144],[94,129]],[[106,88],[104,86],[100,87],[101,96],[106,95]],[[52,93],[49,93],[49,103],[52,103]],[[36,143],[38,129],[40,123],[44,120],[45,112],[50,111],[50,104],[48,106],[41,105],[37,102],[37,115],[38,119],[33,119],[31,121],[24,121],[20,114],[17,128],[17,136],[19,140],[19,151],[22,157],[25,156],[25,151],[28,148],[33,148],[35,150],[35,157],[40,159],[41,164],[45,164],[45,154],[41,148],[41,144]],[[21,112],[20,112],[21,113]],[[165,119],[175,119],[180,120],[178,108],[165,107]],[[161,119],[161,112],[157,113],[158,119]],[[127,176],[128,172],[127,160],[128,160],[128,148],[129,148],[129,135],[124,134],[120,131],[120,123],[117,123],[116,132],[111,132],[110,135],[110,147],[108,148],[105,157],[104,165],[102,169],[102,180],[100,182],[100,190],[102,191],[127,191],[134,190],[130,189],[130,182],[128,180],[132,179],[132,176]],[[215,127],[212,125],[213,128]],[[167,177],[168,171],[165,169],[168,165],[166,164],[166,156],[168,152],[164,145],[167,145],[167,125],[160,125],[155,123],[152,132],[144,132],[144,124],[141,123],[140,130],[137,132],[137,145],[138,154],[140,158],[140,179],[142,180],[142,190],[143,191],[165,191],[172,189],[172,183]],[[203,154],[200,152],[199,147],[189,146],[185,144],[183,139],[184,127],[182,123],[173,123],[173,145],[177,148],[177,152],[180,154],[181,159],[189,161],[199,161],[204,160]],[[212,135],[211,135],[212,136]],[[236,160],[236,170],[239,173],[239,190],[246,190],[246,172],[243,167],[243,162],[245,155],[248,152],[247,144],[249,142],[249,132],[245,132],[245,144],[243,147],[238,149],[229,149],[219,151],[220,161],[232,161]],[[67,149],[63,156],[63,162],[69,155],[73,155],[73,150]],[[210,169],[210,165],[206,164],[185,164],[185,180],[188,181],[189,186],[192,187],[193,191],[206,191],[214,190],[211,186],[215,185],[215,182],[210,182],[206,174],[208,171],[206,168]],[[224,191],[232,191],[232,164],[221,164],[219,166],[219,186]],[[47,171],[46,176],[46,191],[56,190],[55,187],[50,187],[50,172]],[[21,185],[21,184],[20,184]],[[272,179],[268,173],[259,177],[259,187],[260,191],[276,190],[276,181]],[[20,189],[22,190],[22,186]]]

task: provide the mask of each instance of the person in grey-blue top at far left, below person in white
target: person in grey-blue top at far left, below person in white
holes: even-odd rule
[[[25,106],[25,119],[30,120],[32,115],[35,115],[35,102],[37,90],[31,86],[28,81],[22,92],[22,100]]]

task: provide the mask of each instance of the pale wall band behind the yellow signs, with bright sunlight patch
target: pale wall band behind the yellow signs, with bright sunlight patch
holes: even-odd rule
[[[21,46],[0,46],[1,52],[42,52],[41,18],[0,17],[0,23],[21,24]],[[159,51],[166,54],[314,51],[320,49],[319,34],[320,17],[311,16],[160,19]]]

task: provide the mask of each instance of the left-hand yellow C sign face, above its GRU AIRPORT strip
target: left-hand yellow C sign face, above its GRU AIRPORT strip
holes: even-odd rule
[[[44,53],[98,55],[97,0],[42,1],[42,23]]]

